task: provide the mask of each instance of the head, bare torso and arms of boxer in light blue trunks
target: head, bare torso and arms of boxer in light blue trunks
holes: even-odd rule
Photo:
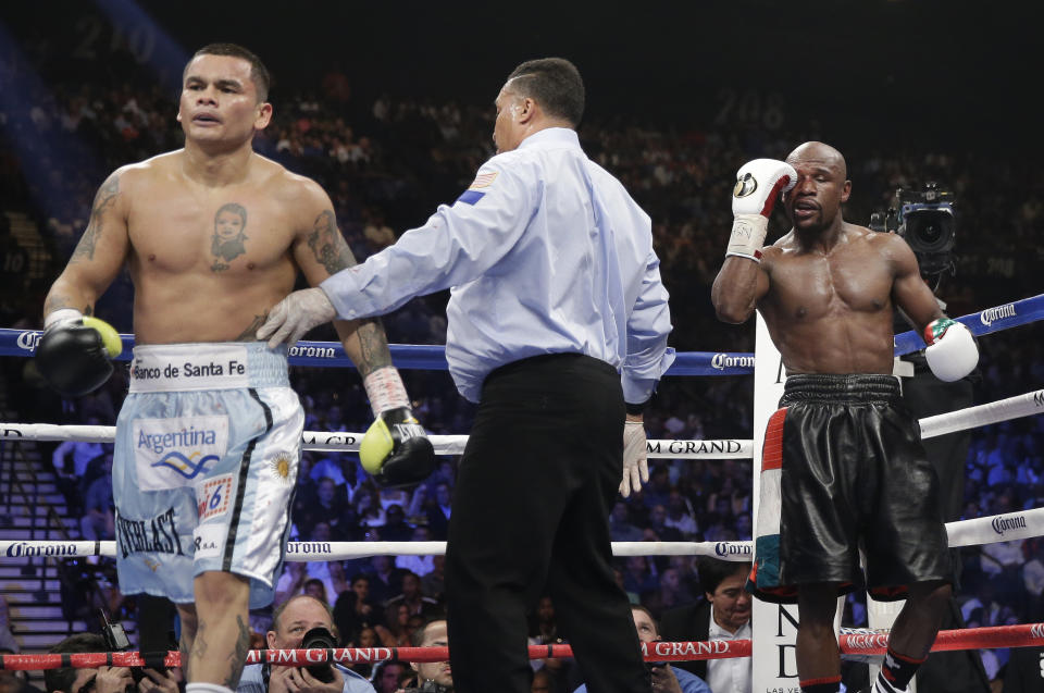
[[[91,314],[126,267],[137,344],[253,339],[298,271],[314,286],[353,265],[322,188],[253,151],[271,115],[248,61],[194,58],[177,116],[185,148],[105,180],[45,313]],[[375,321],[335,326],[361,373],[389,363]]]

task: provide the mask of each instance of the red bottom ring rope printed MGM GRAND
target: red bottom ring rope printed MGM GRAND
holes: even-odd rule
[[[888,645],[888,634],[866,630],[842,629],[838,647],[846,655],[883,655]],[[939,631],[932,652],[956,649],[993,649],[1000,647],[1033,647],[1044,645],[1044,623],[1016,626],[987,626]],[[530,645],[530,659],[572,657],[570,645]],[[693,661],[699,659],[732,659],[749,657],[749,639],[711,640],[699,642],[642,643],[646,661]],[[449,647],[337,647],[333,649],[251,649],[246,664],[268,661],[276,665],[307,666],[323,661],[365,664],[398,659],[401,661],[446,661]],[[181,653],[166,653],[163,665],[181,666]],[[32,669],[87,669],[102,666],[144,667],[145,659],[138,652],[101,652],[41,655],[0,655],[0,670]]]

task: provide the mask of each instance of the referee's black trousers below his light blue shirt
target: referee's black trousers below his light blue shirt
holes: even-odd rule
[[[526,611],[555,603],[591,693],[648,693],[634,620],[612,571],[620,375],[560,354],[486,379],[449,520],[446,595],[459,693],[530,693]]]

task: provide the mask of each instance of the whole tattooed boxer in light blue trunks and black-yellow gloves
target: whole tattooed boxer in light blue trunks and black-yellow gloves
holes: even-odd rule
[[[236,688],[249,606],[271,601],[284,550],[303,417],[285,354],[258,330],[299,276],[315,286],[356,264],[330,196],[253,151],[272,117],[269,85],[241,46],[192,55],[177,111],[185,147],[121,166],[98,189],[36,351],[59,393],[101,386],[122,346],[95,304],[127,271],[138,348],[113,470],[120,587],[177,603],[186,693]],[[375,417],[361,461],[378,484],[422,481],[434,450],[381,324],[333,327]]]

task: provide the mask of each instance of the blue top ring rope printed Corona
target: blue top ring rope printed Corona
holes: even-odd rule
[[[1044,294],[1011,304],[986,308],[957,318],[971,333],[981,336],[1017,327],[1044,319]],[[39,330],[0,329],[0,356],[32,356],[40,341]],[[120,335],[123,354],[116,360],[129,360],[134,336]],[[391,360],[397,368],[448,370],[446,347],[440,345],[391,344]],[[924,341],[915,331],[895,335],[895,355],[903,356],[924,348]],[[351,366],[344,347],[337,342],[298,342],[290,348],[293,366]],[[686,351],[678,354],[668,375],[742,375],[754,372],[753,354]]]

